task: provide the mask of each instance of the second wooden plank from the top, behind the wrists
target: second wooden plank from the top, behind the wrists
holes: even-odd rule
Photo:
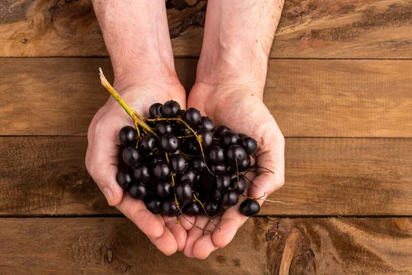
[[[187,91],[196,63],[176,59]],[[87,135],[108,98],[98,67],[113,78],[107,58],[0,58],[0,135]],[[286,137],[412,137],[411,68],[412,61],[271,60],[264,102]]]

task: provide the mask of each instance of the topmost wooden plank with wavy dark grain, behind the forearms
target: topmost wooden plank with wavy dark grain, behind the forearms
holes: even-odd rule
[[[199,56],[206,1],[169,2],[175,56]],[[411,18],[409,0],[286,0],[271,57],[412,58]],[[14,0],[0,3],[0,56],[107,52],[89,0]]]

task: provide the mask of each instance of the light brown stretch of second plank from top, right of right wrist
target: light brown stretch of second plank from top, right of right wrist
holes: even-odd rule
[[[412,137],[412,61],[271,60],[264,102],[285,136]]]

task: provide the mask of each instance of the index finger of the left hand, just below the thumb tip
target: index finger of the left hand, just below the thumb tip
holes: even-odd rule
[[[163,235],[163,224],[155,214],[147,210],[143,201],[133,199],[130,195],[125,194],[116,208],[133,221],[149,238],[159,238]]]

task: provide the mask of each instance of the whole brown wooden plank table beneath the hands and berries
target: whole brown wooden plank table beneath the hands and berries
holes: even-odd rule
[[[187,89],[205,5],[168,7]],[[264,101],[286,136],[271,199],[295,204],[205,261],[163,256],[87,173],[98,67],[113,80],[90,1],[1,1],[0,56],[0,274],[412,274],[411,1],[286,1]]]

